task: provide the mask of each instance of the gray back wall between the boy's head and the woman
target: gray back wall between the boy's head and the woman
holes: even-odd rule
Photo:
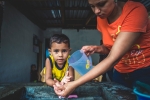
[[[81,29],[77,32],[76,29],[63,29],[62,33],[70,38],[71,54],[84,45],[100,45],[101,36],[97,30]],[[93,54],[92,60],[93,64],[96,65],[99,62],[99,55]]]

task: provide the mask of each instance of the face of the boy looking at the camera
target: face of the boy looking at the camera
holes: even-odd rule
[[[65,43],[52,43],[50,49],[51,55],[54,57],[54,60],[58,64],[58,66],[63,66],[64,62],[66,61],[68,55],[70,54],[70,48],[68,44]]]

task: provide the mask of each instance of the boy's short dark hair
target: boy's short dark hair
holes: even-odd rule
[[[65,34],[54,34],[51,38],[50,38],[50,48],[52,46],[52,43],[53,42],[56,42],[58,44],[60,43],[65,43],[65,44],[68,44],[68,47],[70,48],[70,40],[69,38],[65,35]]]

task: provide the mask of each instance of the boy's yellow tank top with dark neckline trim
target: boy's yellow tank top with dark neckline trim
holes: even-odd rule
[[[69,58],[69,56],[68,56]],[[64,63],[62,68],[59,68],[59,66],[57,65],[57,63],[54,61],[54,58],[52,55],[50,55],[50,62],[51,62],[51,66],[52,66],[52,76],[53,78],[61,81],[63,79],[63,77],[65,76],[65,73],[69,67],[68,64],[68,58],[66,60],[66,62]]]

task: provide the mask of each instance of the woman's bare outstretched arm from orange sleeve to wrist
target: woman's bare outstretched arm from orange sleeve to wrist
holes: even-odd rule
[[[141,33],[120,32],[109,55],[97,64],[91,71],[76,81],[77,86],[90,81],[91,79],[105,73],[110,67],[114,66],[130,50]]]

